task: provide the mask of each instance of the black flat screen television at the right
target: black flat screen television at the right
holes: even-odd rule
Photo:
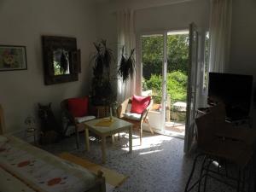
[[[227,119],[244,119],[250,112],[252,88],[252,75],[209,73],[208,102],[224,102]]]

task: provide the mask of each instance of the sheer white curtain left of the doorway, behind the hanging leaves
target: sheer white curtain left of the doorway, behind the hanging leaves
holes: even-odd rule
[[[121,49],[125,46],[125,55],[130,55],[131,49],[135,48],[135,32],[133,10],[120,10],[117,12],[117,31],[118,31],[118,62],[121,57]],[[136,74],[133,79],[128,79],[123,83],[118,80],[117,100],[123,102],[125,98],[135,93]]]

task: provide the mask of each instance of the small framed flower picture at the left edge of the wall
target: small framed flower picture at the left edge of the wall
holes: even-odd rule
[[[0,71],[26,69],[25,46],[0,45]]]

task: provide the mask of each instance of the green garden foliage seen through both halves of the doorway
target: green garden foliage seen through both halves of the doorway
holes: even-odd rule
[[[143,90],[153,90],[154,102],[162,94],[163,37],[142,38]],[[167,36],[167,94],[171,102],[186,101],[189,61],[188,35]]]

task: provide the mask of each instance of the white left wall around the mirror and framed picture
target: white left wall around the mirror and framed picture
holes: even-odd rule
[[[25,71],[0,72],[0,103],[6,132],[24,129],[27,115],[37,116],[37,103],[52,102],[55,111],[62,99],[83,96],[89,91],[88,67],[92,42],[96,39],[93,3],[85,0],[0,0],[0,44],[25,45]],[[77,38],[81,49],[79,81],[44,85],[42,35]]]

